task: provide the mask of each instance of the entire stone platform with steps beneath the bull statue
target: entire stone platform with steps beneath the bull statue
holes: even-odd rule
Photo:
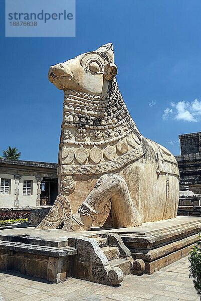
[[[134,228],[94,228],[88,232],[44,231],[21,225],[0,231],[0,269],[57,283],[74,276],[108,284],[108,276],[101,268],[115,270],[117,266],[124,275],[130,271],[152,274],[185,257],[200,231],[200,217],[176,217]]]

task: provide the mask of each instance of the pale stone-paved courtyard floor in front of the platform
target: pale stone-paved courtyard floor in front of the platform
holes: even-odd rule
[[[55,284],[17,273],[0,273],[0,301],[198,301],[188,266],[186,257],[151,276],[128,275],[119,287],[74,278]]]

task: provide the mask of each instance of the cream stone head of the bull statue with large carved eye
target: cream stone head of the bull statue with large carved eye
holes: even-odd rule
[[[96,51],[50,67],[48,78],[58,89],[76,90],[93,95],[105,94],[109,81],[117,74],[111,43]]]

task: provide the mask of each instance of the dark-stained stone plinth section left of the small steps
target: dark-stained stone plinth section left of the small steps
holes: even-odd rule
[[[12,232],[12,234],[4,235]],[[0,235],[0,270],[15,271],[59,283],[71,276],[72,255],[77,250],[60,237],[37,237],[32,227],[2,230]],[[19,235],[19,233],[22,233]],[[32,233],[32,235],[31,235]]]

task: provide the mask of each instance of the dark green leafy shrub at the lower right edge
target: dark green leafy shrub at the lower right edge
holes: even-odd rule
[[[194,288],[198,295],[201,295],[201,236],[196,245],[189,252],[190,273],[189,278],[193,278]]]

